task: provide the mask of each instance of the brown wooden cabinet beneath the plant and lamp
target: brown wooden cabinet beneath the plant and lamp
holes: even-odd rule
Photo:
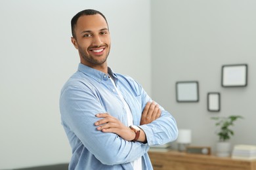
[[[184,152],[148,152],[154,170],[256,170],[256,160],[235,160]]]

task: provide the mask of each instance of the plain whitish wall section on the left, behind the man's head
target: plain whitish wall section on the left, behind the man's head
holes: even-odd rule
[[[77,69],[70,20],[96,9],[112,35],[109,65],[151,93],[150,2],[0,1],[0,169],[68,162],[58,97]]]

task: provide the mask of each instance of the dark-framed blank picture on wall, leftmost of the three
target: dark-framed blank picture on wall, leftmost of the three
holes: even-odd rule
[[[176,82],[177,102],[198,102],[199,89],[197,81]]]

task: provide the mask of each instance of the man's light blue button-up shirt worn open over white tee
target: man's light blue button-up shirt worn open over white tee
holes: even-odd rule
[[[116,88],[129,105],[133,124],[140,125],[142,111],[152,101],[138,82],[129,76],[112,73]],[[152,144],[165,144],[177,139],[177,124],[169,112],[161,109],[161,117],[140,126],[147,143],[125,141],[115,133],[96,130],[97,113],[108,112],[127,126],[125,106],[105,73],[79,63],[76,73],[64,84],[60,94],[61,120],[72,158],[69,169],[133,169],[131,161],[142,156],[142,168],[153,169],[148,157]]]

